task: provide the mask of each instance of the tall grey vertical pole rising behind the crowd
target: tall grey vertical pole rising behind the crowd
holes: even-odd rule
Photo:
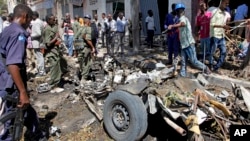
[[[134,53],[138,53],[138,50],[140,49],[139,0],[130,0],[130,4],[131,4],[133,49],[134,49]]]

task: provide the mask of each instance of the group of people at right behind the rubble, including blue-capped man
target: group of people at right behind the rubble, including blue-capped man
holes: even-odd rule
[[[221,0],[218,7],[214,3],[209,3],[209,8],[205,2],[201,2],[199,13],[196,16],[194,36],[189,19],[185,16],[185,5],[182,3],[172,4],[172,11],[166,15],[164,22],[164,27],[167,30],[168,64],[173,63],[173,59],[177,58],[179,50],[181,50],[181,76],[186,76],[187,59],[194,67],[207,74],[211,72],[222,74],[220,68],[225,62],[227,54],[225,36],[227,32],[232,30],[232,27],[229,26],[230,22],[234,23],[233,34],[242,37],[244,27],[247,27],[246,25],[249,25],[250,21],[247,20],[248,7],[246,4],[242,4],[238,6],[232,22],[233,18],[228,10],[229,2],[229,0]],[[246,42],[249,42],[247,31],[243,37],[246,37]],[[150,34],[148,36],[150,37]],[[195,48],[198,42],[200,42],[201,59],[197,59],[197,48]],[[217,48],[220,50],[220,56],[215,61],[214,54]],[[204,64],[205,60],[209,62],[207,66]]]

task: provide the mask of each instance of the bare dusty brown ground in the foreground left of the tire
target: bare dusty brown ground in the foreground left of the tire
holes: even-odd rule
[[[100,52],[100,56],[103,55],[102,53],[103,52]],[[152,52],[149,52],[149,54],[152,55]],[[167,62],[166,53],[163,53],[162,49],[154,55],[157,56],[158,61],[160,60],[162,63]],[[72,59],[68,61],[70,61],[70,63],[74,62]],[[188,71],[191,74],[200,72],[190,67],[188,67]],[[223,69],[223,72],[230,74],[232,70]],[[159,87],[164,89],[166,93],[174,91],[181,94],[183,91],[173,83],[176,79],[178,78],[166,80]],[[48,132],[49,129],[45,126],[55,126],[61,130],[59,136],[50,135],[50,141],[112,141],[103,128],[103,122],[98,121],[95,115],[90,112],[82,97],[75,95],[73,91],[75,86],[72,83],[65,83],[65,91],[60,94],[52,94],[49,92],[38,94],[35,90],[35,86],[35,83],[29,83],[33,106],[40,114],[44,128],[46,128]],[[104,99],[102,99],[102,102],[103,100]],[[45,112],[41,110],[43,105],[49,107]],[[100,105],[100,108],[102,108],[102,105]],[[44,113],[46,113],[47,116],[44,116]],[[143,140],[153,141],[155,139],[151,136],[147,136]]]

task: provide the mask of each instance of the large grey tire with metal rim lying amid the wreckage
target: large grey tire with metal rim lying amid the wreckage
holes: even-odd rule
[[[114,140],[139,140],[147,131],[146,107],[138,95],[121,90],[110,93],[103,113],[104,127]]]

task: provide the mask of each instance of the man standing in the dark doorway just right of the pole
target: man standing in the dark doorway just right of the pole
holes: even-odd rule
[[[148,16],[146,17],[146,30],[147,30],[147,42],[148,46],[150,48],[153,47],[153,39],[154,39],[154,34],[155,34],[155,22],[154,22],[154,17],[153,17],[153,11],[148,10]]]

